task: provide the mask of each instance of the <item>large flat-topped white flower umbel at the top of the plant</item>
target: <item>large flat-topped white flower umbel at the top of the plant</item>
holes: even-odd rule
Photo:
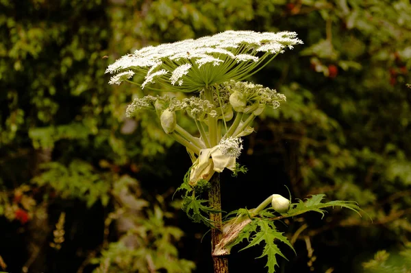
[[[142,88],[154,82],[171,91],[193,92],[256,73],[284,49],[302,44],[295,32],[227,31],[197,40],[145,47],[110,64],[110,84],[129,81],[129,71],[145,75]],[[271,57],[270,57],[271,56]],[[122,74],[127,71],[128,74]],[[127,75],[127,78],[123,76]],[[116,80],[119,77],[119,80]]]

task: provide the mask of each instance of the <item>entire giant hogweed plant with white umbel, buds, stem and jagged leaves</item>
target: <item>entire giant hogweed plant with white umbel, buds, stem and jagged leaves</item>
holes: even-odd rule
[[[295,203],[273,194],[256,209],[238,209],[222,220],[219,174],[225,169],[234,175],[247,171],[236,162],[242,151],[241,138],[253,132],[252,123],[264,108],[278,108],[286,102],[275,90],[242,81],[285,49],[299,44],[302,41],[295,32],[227,31],[145,47],[116,60],[106,71],[114,74],[110,84],[129,82],[143,90],[193,94],[184,99],[167,95],[136,98],[127,108],[127,117],[138,115],[140,110],[155,111],[164,132],[186,147],[192,166],[177,191],[183,193],[188,217],[211,228],[214,272],[228,272],[227,255],[244,239],[249,243],[245,248],[264,242],[260,257],[266,257],[268,271],[275,272],[277,255],[284,257],[277,244],[292,248],[277,231],[276,220],[308,211],[323,214],[329,206],[360,211],[356,202],[323,202],[323,194]],[[140,77],[133,81],[135,75]],[[144,81],[140,83],[138,78]],[[193,119],[197,134],[179,125],[176,112],[185,112]]]

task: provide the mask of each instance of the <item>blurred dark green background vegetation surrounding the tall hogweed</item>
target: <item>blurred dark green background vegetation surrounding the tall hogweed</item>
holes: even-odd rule
[[[192,270],[186,261],[192,260],[192,272],[210,272],[198,248],[184,249],[190,242],[181,231],[153,236],[160,227],[178,226],[190,241],[198,238],[192,232],[198,225],[164,205],[186,171],[173,169],[171,161],[184,161],[185,151],[153,123],[155,113],[126,119],[127,104],[143,93],[137,86],[109,86],[104,73],[134,49],[226,29],[295,31],[305,45],[248,79],[276,88],[287,102],[253,124],[256,137],[243,143],[247,154],[240,158],[249,171],[229,181],[235,189],[223,188],[223,202],[232,208],[244,207],[246,199],[258,204],[268,192],[284,193],[286,184],[295,198],[325,193],[330,200],[354,200],[372,217],[373,222],[336,206],[324,221],[311,214],[284,219],[287,226],[271,228],[266,236],[282,233],[298,255],[279,244],[289,260],[277,260],[279,272],[371,271],[374,265],[362,263],[383,249],[393,254],[388,260],[386,254],[375,257],[385,263],[382,268],[395,272],[407,266],[390,259],[398,260],[395,253],[404,251],[411,230],[409,1],[1,0],[0,10],[0,270],[91,272],[105,270],[106,260],[117,256],[124,259],[109,265],[116,270],[128,262],[152,272],[166,265],[174,268],[169,271],[183,265]],[[182,122],[194,132],[195,124]],[[259,166],[271,172],[250,181]],[[114,217],[125,206],[119,196],[130,195],[136,199],[130,201],[132,213]],[[153,216],[156,206],[162,214]],[[65,241],[55,250],[49,243],[62,212]],[[119,231],[126,220],[134,224]],[[262,227],[254,221],[255,235]],[[137,233],[150,222],[149,238]],[[124,252],[120,241],[127,232],[145,240],[145,255],[171,253],[170,259],[143,261],[137,245]],[[82,233],[88,245],[76,239]],[[25,243],[18,241],[22,237]],[[167,242],[165,250],[157,239]],[[250,264],[263,248],[247,253]],[[339,257],[324,258],[337,250]],[[232,254],[234,272],[244,268],[247,258],[241,255],[249,251]],[[257,263],[260,270],[266,260]]]

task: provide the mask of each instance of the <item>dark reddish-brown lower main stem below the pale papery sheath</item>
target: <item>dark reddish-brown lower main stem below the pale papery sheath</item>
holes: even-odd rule
[[[214,174],[211,180],[211,189],[208,192],[208,200],[213,209],[221,211],[221,191],[220,191],[220,174]],[[214,255],[216,245],[223,239],[223,219],[221,213],[210,213],[210,220],[214,224],[211,229],[211,253],[214,263],[214,273],[228,273],[227,256]]]

